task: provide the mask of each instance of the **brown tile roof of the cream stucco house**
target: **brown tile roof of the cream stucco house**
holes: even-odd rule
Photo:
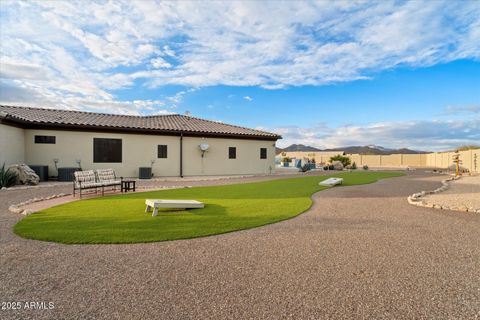
[[[0,119],[36,127],[111,129],[118,131],[149,131],[184,133],[206,136],[232,136],[280,139],[281,136],[256,129],[244,128],[179,114],[157,116],[127,116],[83,111],[43,109],[0,105]]]

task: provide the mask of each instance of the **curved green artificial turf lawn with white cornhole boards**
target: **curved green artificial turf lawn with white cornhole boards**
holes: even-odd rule
[[[343,186],[402,175],[395,172],[336,173]],[[66,203],[20,220],[24,238],[61,243],[135,243],[187,239],[248,229],[295,217],[309,209],[311,195],[328,176],[246,184],[119,194]],[[144,213],[145,199],[194,199],[204,209]]]

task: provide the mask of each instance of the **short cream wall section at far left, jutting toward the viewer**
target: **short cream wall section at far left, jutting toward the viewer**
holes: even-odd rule
[[[0,166],[25,163],[25,130],[0,124]]]

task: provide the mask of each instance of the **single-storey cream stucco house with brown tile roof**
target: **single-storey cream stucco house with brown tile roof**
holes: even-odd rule
[[[138,177],[269,174],[281,136],[185,115],[127,116],[0,106],[0,165],[112,168]],[[207,147],[202,151],[200,145]]]

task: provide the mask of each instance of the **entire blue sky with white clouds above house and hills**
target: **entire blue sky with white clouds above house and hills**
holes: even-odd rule
[[[2,1],[0,103],[193,116],[280,146],[480,143],[480,2]]]

